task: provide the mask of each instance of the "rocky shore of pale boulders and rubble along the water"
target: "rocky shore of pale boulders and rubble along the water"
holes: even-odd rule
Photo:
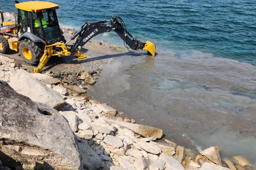
[[[73,34],[64,32],[66,39]],[[93,49],[123,51],[95,40],[83,50]],[[104,61],[83,60],[31,74],[32,66],[0,55],[0,170],[253,169],[241,156],[221,158],[218,146],[195,153],[162,141],[161,129],[123,119],[123,112],[86,93]]]

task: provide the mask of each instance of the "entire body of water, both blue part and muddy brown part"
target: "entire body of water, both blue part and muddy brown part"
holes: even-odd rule
[[[179,145],[218,145],[222,157],[242,155],[256,166],[255,0],[51,2],[63,26],[117,15],[157,46],[155,58],[109,56],[93,96]],[[16,12],[13,3],[0,0],[0,10]],[[113,33],[96,39],[123,44]]]

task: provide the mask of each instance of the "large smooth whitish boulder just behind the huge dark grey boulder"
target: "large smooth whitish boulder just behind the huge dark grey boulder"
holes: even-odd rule
[[[17,93],[27,96],[33,101],[47,104],[52,108],[59,108],[66,105],[58,92],[45,86],[25,70],[18,70],[16,74],[10,77],[9,85]]]

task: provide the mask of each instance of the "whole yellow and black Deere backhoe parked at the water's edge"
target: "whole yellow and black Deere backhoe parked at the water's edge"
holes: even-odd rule
[[[156,47],[150,41],[139,41],[130,34],[121,17],[114,16],[110,20],[86,22],[81,26],[70,40],[76,38],[75,43],[69,47],[68,42],[59,28],[56,9],[57,4],[42,1],[28,1],[19,3],[17,18],[4,21],[1,13],[0,25],[0,52],[7,54],[10,50],[20,52],[25,62],[37,65],[33,73],[39,73],[48,59],[52,56],[75,55],[85,58],[86,55],[79,50],[94,36],[114,31],[123,40],[124,45],[131,50],[146,50],[155,56]],[[129,46],[129,47],[128,47]]]

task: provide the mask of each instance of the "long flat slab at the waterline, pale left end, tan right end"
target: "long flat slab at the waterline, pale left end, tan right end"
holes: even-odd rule
[[[132,123],[128,123],[128,122],[115,121],[115,120],[110,120],[110,119],[105,119],[105,121],[109,124],[116,124],[120,127],[130,129],[134,133],[142,135],[143,137],[154,136],[157,138],[161,138],[162,134],[163,134],[163,131],[161,129],[150,127],[150,126],[132,124]]]

